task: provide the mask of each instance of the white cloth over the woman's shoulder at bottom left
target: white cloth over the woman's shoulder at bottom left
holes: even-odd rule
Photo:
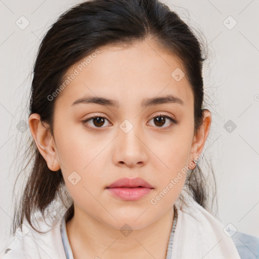
[[[1,259],[27,258],[65,258],[60,233],[61,219],[50,222],[37,222],[41,232],[35,231],[28,223],[22,224],[22,231],[16,230],[15,235],[9,237],[8,246],[1,253]]]

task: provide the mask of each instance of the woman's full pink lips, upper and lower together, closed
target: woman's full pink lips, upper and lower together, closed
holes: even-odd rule
[[[106,189],[115,197],[136,201],[149,194],[154,188],[142,178],[121,178],[107,186]]]

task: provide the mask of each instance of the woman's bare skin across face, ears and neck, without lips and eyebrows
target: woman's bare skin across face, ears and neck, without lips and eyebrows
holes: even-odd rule
[[[61,168],[74,200],[74,217],[66,227],[75,259],[165,258],[174,217],[172,206],[186,175],[156,204],[151,199],[184,166],[195,167],[191,162],[202,152],[211,113],[204,111],[203,124],[194,135],[194,99],[189,82],[186,76],[180,81],[171,76],[176,68],[184,69],[176,57],[152,42],[142,41],[130,48],[106,46],[99,51],[59,94],[54,137],[38,114],[29,117],[30,131],[53,174]],[[78,64],[67,71],[67,76]],[[184,105],[141,106],[145,98],[168,94],[180,98]],[[72,106],[75,100],[87,96],[116,100],[120,108],[100,104]],[[159,124],[154,120],[159,114],[178,123],[166,118]],[[106,120],[103,124],[94,119],[82,122],[94,115]],[[133,126],[127,133],[120,128],[124,120]],[[73,171],[81,177],[76,185],[68,180]],[[123,177],[141,177],[154,189],[137,201],[123,201],[105,189]],[[124,224],[133,230],[128,236],[120,232]]]

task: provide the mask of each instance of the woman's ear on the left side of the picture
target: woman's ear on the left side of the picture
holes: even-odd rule
[[[50,130],[40,120],[40,115],[33,113],[29,116],[29,128],[35,144],[47,162],[50,170],[57,171],[60,164],[56,159],[57,149]]]

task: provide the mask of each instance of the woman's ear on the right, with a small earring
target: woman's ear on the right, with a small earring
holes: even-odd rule
[[[199,127],[197,133],[193,137],[192,148],[190,153],[190,161],[189,161],[190,169],[195,168],[196,164],[193,162],[193,159],[197,160],[197,157],[199,157],[199,154],[202,152],[210,130],[211,113],[209,110],[205,109],[203,110],[203,114],[204,115],[203,115],[202,124]]]

